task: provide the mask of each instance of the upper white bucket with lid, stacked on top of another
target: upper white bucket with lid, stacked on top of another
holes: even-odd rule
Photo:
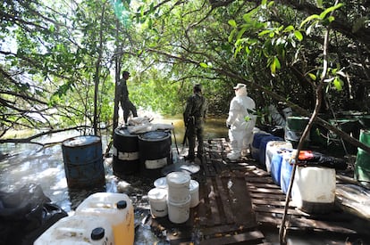
[[[191,177],[182,172],[172,172],[166,176],[168,184],[168,200],[183,203],[189,198]]]

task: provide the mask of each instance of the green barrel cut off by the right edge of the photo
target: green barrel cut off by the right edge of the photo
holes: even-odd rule
[[[361,130],[359,142],[370,146],[370,130]],[[359,182],[370,183],[370,154],[361,148],[357,149],[355,179]]]

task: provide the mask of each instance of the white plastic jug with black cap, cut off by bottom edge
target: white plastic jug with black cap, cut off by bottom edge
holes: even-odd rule
[[[114,234],[104,217],[67,216],[50,226],[33,244],[114,244]]]

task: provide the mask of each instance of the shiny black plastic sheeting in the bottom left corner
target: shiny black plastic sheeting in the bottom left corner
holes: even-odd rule
[[[52,203],[38,184],[0,192],[0,244],[33,244],[64,216],[68,214]]]

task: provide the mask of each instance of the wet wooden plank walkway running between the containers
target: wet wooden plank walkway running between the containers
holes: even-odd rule
[[[255,159],[228,161],[225,139],[208,140],[205,147],[201,170],[192,176],[199,183],[200,203],[190,208],[188,222],[175,225],[163,217],[153,219],[152,227],[166,231],[171,244],[273,244],[265,231],[278,234],[285,205],[281,188]],[[338,207],[313,216],[290,204],[287,220],[288,233],[338,234],[370,244],[368,220]]]

